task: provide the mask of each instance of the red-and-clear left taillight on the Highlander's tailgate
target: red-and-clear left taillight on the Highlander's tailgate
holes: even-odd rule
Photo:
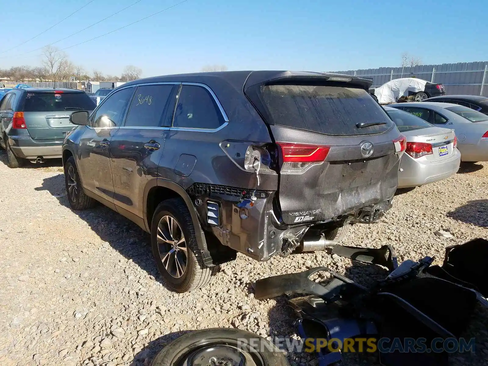
[[[291,142],[277,142],[281,147],[282,173],[300,174],[312,165],[322,163],[329,153],[330,146],[309,145]]]

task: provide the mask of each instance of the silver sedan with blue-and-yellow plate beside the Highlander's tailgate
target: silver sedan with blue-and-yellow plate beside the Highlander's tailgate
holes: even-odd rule
[[[395,108],[385,107],[385,110],[407,137],[407,149],[398,172],[398,188],[437,182],[459,170],[461,154],[456,148],[454,130],[436,127]]]

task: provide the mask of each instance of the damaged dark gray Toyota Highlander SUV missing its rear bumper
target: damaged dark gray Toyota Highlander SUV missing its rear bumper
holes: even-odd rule
[[[208,283],[237,252],[324,250],[391,207],[406,146],[371,81],[235,71],[131,81],[74,112],[73,209],[99,201],[151,234],[167,284]]]

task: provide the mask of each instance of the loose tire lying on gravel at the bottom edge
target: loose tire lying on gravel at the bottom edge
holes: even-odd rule
[[[211,328],[183,334],[166,345],[150,365],[240,364],[289,366],[285,355],[271,342],[257,334],[233,328]]]

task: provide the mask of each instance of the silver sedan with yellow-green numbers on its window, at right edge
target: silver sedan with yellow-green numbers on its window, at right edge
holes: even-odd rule
[[[488,161],[488,116],[463,105],[435,102],[396,103],[403,109],[437,127],[456,131],[463,162]]]

